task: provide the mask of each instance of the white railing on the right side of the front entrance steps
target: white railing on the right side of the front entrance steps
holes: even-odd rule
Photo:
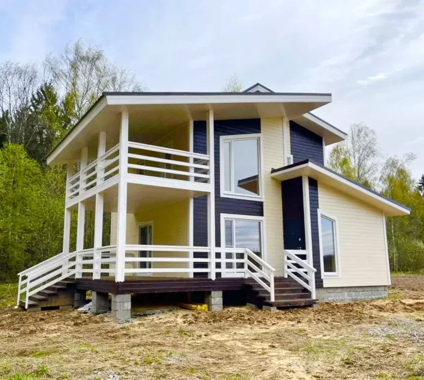
[[[284,277],[293,278],[309,290],[312,299],[315,299],[315,272],[317,270],[299,256],[308,257],[308,253],[305,250],[284,250]]]

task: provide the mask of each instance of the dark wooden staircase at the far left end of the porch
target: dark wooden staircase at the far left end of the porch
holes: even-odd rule
[[[72,279],[58,281],[54,285],[29,296],[27,311],[68,309],[74,304],[75,284]],[[19,306],[25,309],[25,301]]]

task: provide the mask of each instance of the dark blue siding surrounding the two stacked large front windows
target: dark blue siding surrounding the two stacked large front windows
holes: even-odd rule
[[[206,153],[206,121],[195,121],[193,126],[194,152]],[[221,198],[219,190],[219,136],[239,135],[246,133],[260,133],[261,119],[246,120],[215,120],[215,242],[220,246],[220,214],[242,214],[264,216],[262,202],[245,201],[241,199]],[[197,246],[208,245],[208,203],[207,197],[194,199],[194,244]]]

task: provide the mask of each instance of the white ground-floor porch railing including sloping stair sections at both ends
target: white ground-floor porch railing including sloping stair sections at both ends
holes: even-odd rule
[[[143,257],[140,252],[150,252],[150,257]],[[209,247],[174,246],[174,245],[126,245],[124,273],[156,274],[156,273],[204,273],[211,277],[220,273],[222,277],[253,278],[270,294],[274,301],[274,269],[258,255],[245,248],[215,248],[215,258],[212,260]],[[194,257],[194,253],[203,257]],[[228,253],[235,254],[231,258]],[[221,255],[219,255],[221,254]],[[163,256],[161,256],[163,255]],[[138,263],[145,263],[142,266]],[[134,264],[137,264],[134,266]],[[196,266],[196,264],[202,264]],[[39,291],[54,285],[68,277],[101,278],[116,273],[116,245],[89,248],[70,253],[60,253],[40,264],[18,273],[17,305],[22,295],[25,308],[28,308],[29,298]],[[213,277],[212,277],[213,278]]]

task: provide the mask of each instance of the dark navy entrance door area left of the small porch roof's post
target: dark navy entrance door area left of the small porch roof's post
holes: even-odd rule
[[[281,182],[285,249],[305,249],[302,177]]]

